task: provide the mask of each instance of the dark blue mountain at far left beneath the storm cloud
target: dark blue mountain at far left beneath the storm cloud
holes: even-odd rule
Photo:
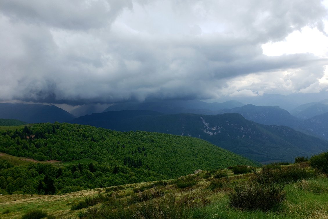
[[[0,103],[0,118],[18,119],[27,123],[64,122],[75,118],[54,105]]]

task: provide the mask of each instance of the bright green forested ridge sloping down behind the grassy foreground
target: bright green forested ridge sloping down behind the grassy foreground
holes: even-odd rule
[[[5,194],[66,193],[170,179],[195,169],[258,165],[197,138],[145,131],[119,132],[57,122],[0,131],[0,152],[38,161],[64,162],[63,165],[13,166],[10,160],[2,159],[0,189]],[[82,158],[97,163],[72,162]],[[70,164],[64,165],[65,162]]]

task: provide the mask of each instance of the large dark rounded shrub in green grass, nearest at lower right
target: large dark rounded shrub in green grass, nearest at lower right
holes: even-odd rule
[[[250,183],[238,185],[228,192],[228,203],[239,209],[270,210],[285,200],[284,186],[278,184]]]

